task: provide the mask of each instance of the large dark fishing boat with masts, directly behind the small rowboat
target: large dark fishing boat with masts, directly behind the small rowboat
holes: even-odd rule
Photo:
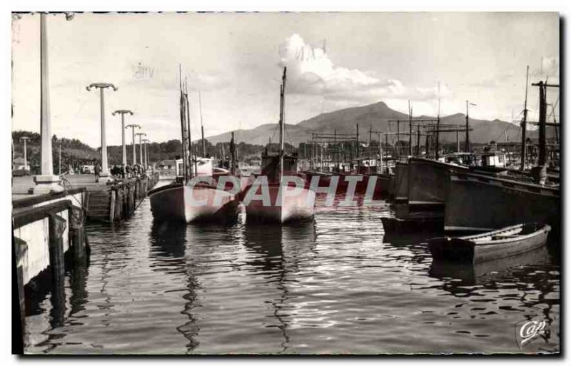
[[[547,90],[558,85],[542,81],[532,84],[540,88],[539,139],[537,163],[528,179],[512,176],[484,175],[481,173],[453,173],[450,175],[449,194],[445,208],[445,230],[489,231],[518,223],[540,222],[560,230],[560,186],[547,174]],[[527,81],[524,106],[527,105]],[[520,169],[526,166],[525,126],[526,113],[522,118],[522,149]],[[550,123],[558,126],[557,123]],[[558,152],[559,148],[555,148]],[[552,151],[553,152],[553,151]],[[556,177],[555,177],[556,178]],[[550,183],[550,180],[552,181]]]

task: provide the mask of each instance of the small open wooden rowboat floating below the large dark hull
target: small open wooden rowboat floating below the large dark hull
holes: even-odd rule
[[[460,238],[429,239],[428,248],[433,260],[482,263],[539,248],[550,230],[550,225],[525,223]]]

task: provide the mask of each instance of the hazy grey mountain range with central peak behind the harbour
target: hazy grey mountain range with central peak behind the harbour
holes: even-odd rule
[[[415,119],[434,119],[435,116],[418,116]],[[338,134],[355,133],[357,131],[357,124],[359,125],[360,140],[367,141],[369,128],[372,126],[373,131],[397,131],[397,123],[389,122],[389,120],[406,121],[400,123],[400,131],[408,131],[408,115],[393,111],[386,103],[380,101],[378,103],[369,104],[367,106],[359,106],[353,108],[340,109],[328,113],[321,113],[318,116],[300,121],[297,124],[285,125],[285,142],[291,143],[293,146],[298,146],[301,142],[310,141],[311,133],[333,133],[337,131]],[[456,113],[450,116],[443,116],[440,118],[442,124],[458,124],[465,125],[466,115],[463,113]],[[490,141],[505,141],[505,136],[510,141],[519,141],[520,127],[514,123],[506,121],[493,120],[486,121],[475,118],[470,118],[470,142],[473,143],[489,143]],[[415,129],[413,128],[413,131]],[[257,145],[265,145],[271,138],[273,142],[278,141],[278,123],[267,123],[250,130],[235,130],[236,141],[252,143]],[[530,131],[530,137],[534,133]],[[455,141],[455,133],[442,133],[442,141]],[[464,141],[465,133],[460,133],[460,141]],[[230,141],[231,133],[221,133],[216,136],[209,136],[208,141],[211,143],[228,142]],[[373,134],[373,139],[377,139]],[[401,136],[402,140],[407,140],[405,136]],[[389,140],[390,142],[390,140]]]

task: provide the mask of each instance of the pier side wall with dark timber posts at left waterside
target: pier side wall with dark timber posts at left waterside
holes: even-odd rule
[[[29,178],[29,177],[24,177]],[[76,177],[75,183],[86,177]],[[123,220],[133,215],[158,174],[128,178],[113,185],[75,184],[60,193],[30,194],[30,179],[13,181],[12,263],[14,295],[18,295],[21,334],[26,344],[26,299],[51,293],[51,322],[59,326],[65,312],[65,271],[85,273],[89,244],[87,219]],[[72,279],[73,280],[73,279]]]

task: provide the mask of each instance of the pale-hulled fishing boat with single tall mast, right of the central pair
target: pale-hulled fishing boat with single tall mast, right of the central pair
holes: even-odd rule
[[[284,67],[280,88],[280,151],[278,153],[266,151],[262,154],[261,176],[267,178],[267,184],[257,185],[256,181],[262,177],[256,177],[256,181],[249,185],[243,194],[247,222],[281,224],[296,220],[313,220],[315,191],[311,190],[307,183],[303,183],[303,178],[297,174],[298,156],[286,154],[284,149],[285,122],[283,106],[286,70]],[[303,187],[296,186],[294,188],[296,190],[295,195],[285,194],[286,190],[291,189],[288,180],[284,179],[288,176],[295,176],[303,183]],[[263,195],[266,188],[268,190],[269,202],[251,199],[255,195]]]

